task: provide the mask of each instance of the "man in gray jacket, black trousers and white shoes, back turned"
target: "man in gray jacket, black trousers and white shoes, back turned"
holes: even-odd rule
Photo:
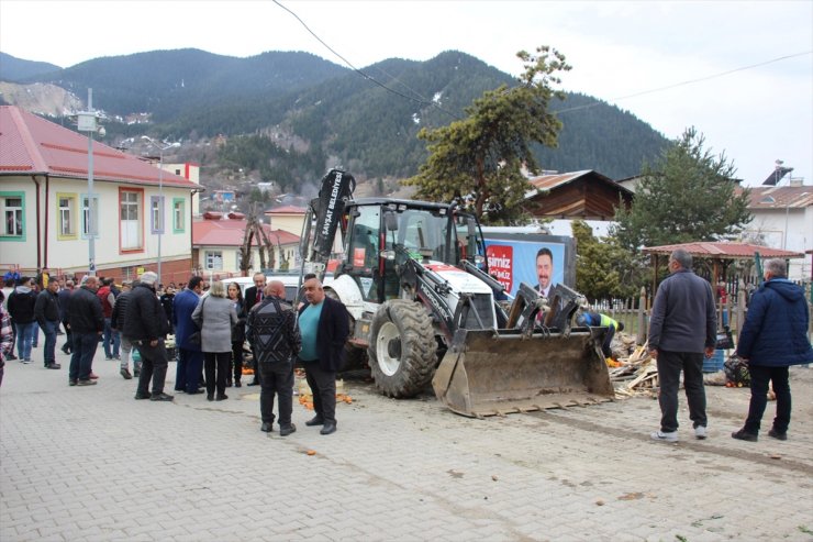
[[[680,372],[689,402],[694,436],[705,439],[703,354],[711,357],[716,343],[714,295],[708,280],[692,272],[691,254],[677,250],[669,256],[670,275],[660,283],[649,319],[649,355],[658,362],[660,431],[657,441],[678,441]]]

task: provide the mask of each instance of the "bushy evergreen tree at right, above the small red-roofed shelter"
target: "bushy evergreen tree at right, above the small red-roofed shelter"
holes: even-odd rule
[[[611,234],[641,246],[713,241],[731,236],[750,221],[749,190],[737,193],[736,169],[724,155],[704,150],[693,128],[668,147],[654,165],[644,165],[635,200],[617,208]]]

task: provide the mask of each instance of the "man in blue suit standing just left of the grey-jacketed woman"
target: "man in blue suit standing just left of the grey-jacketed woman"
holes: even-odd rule
[[[187,287],[172,300],[172,325],[175,345],[178,349],[178,367],[175,374],[175,390],[200,394],[200,375],[203,370],[203,353],[200,344],[189,341],[189,335],[198,331],[192,321],[192,312],[203,295],[203,277],[192,277]]]

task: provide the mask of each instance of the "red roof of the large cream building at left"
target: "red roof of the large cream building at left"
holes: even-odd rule
[[[159,184],[160,169],[137,156],[93,142],[93,179]],[[88,137],[13,106],[0,107],[0,175],[88,178]],[[166,187],[201,187],[169,172]]]

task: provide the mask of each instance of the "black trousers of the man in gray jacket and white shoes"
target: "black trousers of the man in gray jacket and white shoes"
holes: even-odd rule
[[[703,387],[703,355],[692,352],[658,351],[658,379],[660,390],[660,430],[671,433],[678,430],[678,388],[680,372],[683,372],[683,387],[689,402],[689,418],[693,427],[708,423],[705,417],[705,388]]]

